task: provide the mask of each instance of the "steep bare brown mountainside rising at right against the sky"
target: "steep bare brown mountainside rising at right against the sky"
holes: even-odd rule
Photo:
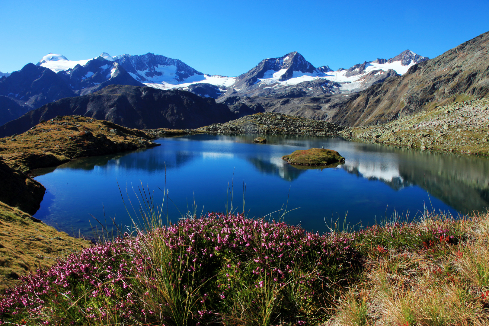
[[[422,109],[489,96],[489,32],[359,93],[328,118],[347,126],[385,123]]]

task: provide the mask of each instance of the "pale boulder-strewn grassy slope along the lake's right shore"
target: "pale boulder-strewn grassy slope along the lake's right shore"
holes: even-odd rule
[[[489,154],[489,98],[437,107],[373,127],[354,127],[340,134],[381,144]]]

